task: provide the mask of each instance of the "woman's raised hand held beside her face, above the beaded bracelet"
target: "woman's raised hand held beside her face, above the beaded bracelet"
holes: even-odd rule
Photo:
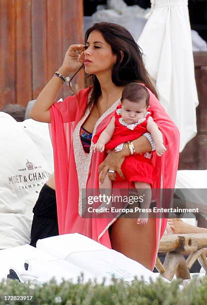
[[[84,45],[71,44],[65,54],[62,66],[58,70],[63,76],[77,71],[84,63]]]

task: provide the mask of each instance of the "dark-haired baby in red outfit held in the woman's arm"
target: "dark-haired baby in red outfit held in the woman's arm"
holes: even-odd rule
[[[163,136],[157,124],[148,112],[150,95],[144,85],[129,83],[123,90],[121,105],[117,107],[115,116],[109,125],[100,135],[93,137],[94,144],[91,145],[93,152],[113,150],[121,151],[124,143],[127,143],[130,155],[125,158],[122,164],[122,172],[129,182],[134,182],[139,196],[144,196],[141,204],[142,209],[148,209],[151,203],[151,186],[155,177],[155,167],[152,163],[152,154],[136,154],[134,145],[131,142],[149,132],[155,142],[156,153],[161,156],[166,152],[163,144]],[[110,171],[110,172],[113,172]],[[118,174],[116,174],[118,176]],[[117,177],[119,179],[119,177]],[[102,184],[99,184],[100,193],[111,195],[112,182],[106,175]],[[101,207],[111,207],[103,202]],[[148,222],[148,213],[140,213],[137,219],[138,224]]]

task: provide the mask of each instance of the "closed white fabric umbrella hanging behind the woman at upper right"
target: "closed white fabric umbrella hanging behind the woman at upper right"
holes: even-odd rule
[[[153,0],[138,40],[160,102],[178,126],[180,151],[196,136],[198,95],[188,0]]]

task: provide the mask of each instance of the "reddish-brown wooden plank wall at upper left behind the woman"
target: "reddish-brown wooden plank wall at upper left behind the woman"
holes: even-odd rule
[[[0,108],[37,98],[69,45],[82,42],[82,0],[0,0]]]

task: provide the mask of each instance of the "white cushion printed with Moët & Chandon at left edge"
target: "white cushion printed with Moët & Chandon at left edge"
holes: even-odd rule
[[[32,208],[50,174],[21,125],[0,112],[0,249],[30,243]]]

